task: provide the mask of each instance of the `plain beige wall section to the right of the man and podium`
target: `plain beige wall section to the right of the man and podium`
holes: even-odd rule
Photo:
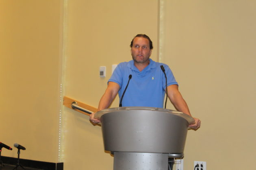
[[[255,169],[255,1],[163,0],[161,62],[174,71],[192,115],[184,169]],[[170,106],[170,105],[169,105]]]

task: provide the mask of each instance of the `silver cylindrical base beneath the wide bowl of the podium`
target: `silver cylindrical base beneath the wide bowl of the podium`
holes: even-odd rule
[[[114,170],[167,170],[167,153],[114,152]]]

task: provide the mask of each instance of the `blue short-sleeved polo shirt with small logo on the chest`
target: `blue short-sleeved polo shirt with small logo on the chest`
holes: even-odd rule
[[[119,99],[124,93],[128,83],[129,75],[132,79],[126,89],[122,106],[143,106],[163,108],[165,97],[165,75],[161,70],[164,66],[167,76],[167,86],[178,85],[169,66],[163,63],[154,62],[150,59],[150,64],[142,71],[134,65],[134,61],[122,62],[117,65],[108,82],[115,82],[121,87],[118,91]]]

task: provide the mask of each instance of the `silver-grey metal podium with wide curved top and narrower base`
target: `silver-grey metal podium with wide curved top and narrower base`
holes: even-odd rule
[[[194,119],[163,108],[118,107],[95,113],[104,149],[114,153],[114,170],[167,170],[169,155],[183,155]]]

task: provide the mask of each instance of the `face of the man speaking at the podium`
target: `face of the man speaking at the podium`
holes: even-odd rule
[[[133,40],[131,54],[137,64],[148,64],[152,49],[147,38],[135,37]]]

